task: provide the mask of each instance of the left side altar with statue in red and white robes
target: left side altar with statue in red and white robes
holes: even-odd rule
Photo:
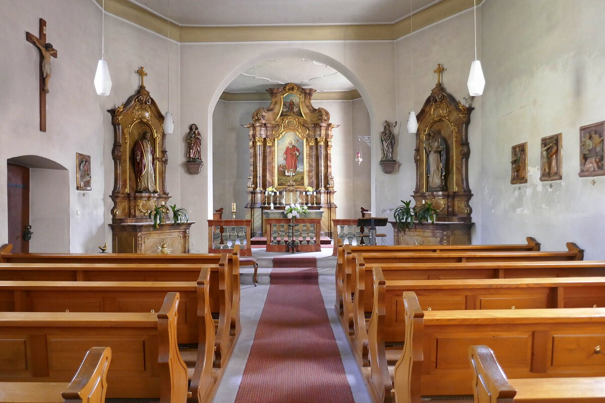
[[[164,115],[141,85],[125,103],[110,109],[114,127],[114,189],[111,192],[114,253],[189,253],[189,228],[194,222],[163,223],[153,228],[149,213],[160,207],[168,216],[166,134]]]

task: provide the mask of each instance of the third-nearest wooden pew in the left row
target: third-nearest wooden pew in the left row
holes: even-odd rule
[[[211,400],[224,372],[213,370],[213,364],[218,368],[221,358],[227,358],[220,356],[221,340],[215,348],[209,303],[210,272],[209,268],[201,268],[197,282],[0,281],[0,311],[157,312],[166,292],[178,292],[177,341],[194,343],[197,347],[192,357],[191,392],[194,401],[206,402]]]

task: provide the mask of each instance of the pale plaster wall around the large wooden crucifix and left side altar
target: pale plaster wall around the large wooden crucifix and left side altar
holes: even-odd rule
[[[101,9],[93,0],[1,1],[0,24],[0,161],[21,155],[36,155],[56,161],[68,169],[69,245],[63,252],[95,252],[98,245],[111,244],[113,189],[113,129],[106,109],[116,108],[138,88],[139,66],[149,76],[145,85],[165,110],[168,93],[168,45],[171,47],[170,92],[175,134],[167,140],[168,190],[179,203],[179,177],[184,161],[178,117],[178,44],[111,15],[105,16],[105,59],[110,66],[113,88],[108,97],[96,94],[93,85],[101,56]],[[25,40],[25,31],[38,36],[39,18],[47,21],[47,40],[58,51],[52,60],[50,94],[47,95],[47,132],[39,131],[39,51]],[[10,77],[10,79],[8,79]],[[183,134],[184,136],[185,134]],[[93,175],[90,192],[76,190],[76,152],[91,156]],[[0,210],[7,211],[6,164],[0,163]],[[85,196],[82,196],[85,195]],[[56,199],[48,199],[49,203]],[[80,210],[80,216],[76,216]],[[5,223],[5,220],[4,220]],[[0,243],[7,239],[6,224],[0,225]],[[38,239],[39,250],[56,250],[55,241]]]

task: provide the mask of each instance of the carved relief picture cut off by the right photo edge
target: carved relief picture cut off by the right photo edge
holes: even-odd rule
[[[603,164],[605,121],[580,127],[579,176],[605,175]]]

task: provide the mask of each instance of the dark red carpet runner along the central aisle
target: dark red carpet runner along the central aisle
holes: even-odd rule
[[[236,403],[353,403],[315,257],[275,257]]]

